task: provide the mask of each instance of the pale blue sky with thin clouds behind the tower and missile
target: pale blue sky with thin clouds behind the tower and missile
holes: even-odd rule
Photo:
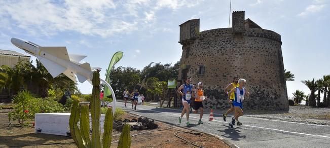
[[[295,74],[288,96],[309,89],[302,80],[330,74],[330,0],[232,0],[231,11],[245,11],[264,29],[281,35],[284,68]],[[200,31],[226,28],[230,0],[0,1],[0,49],[24,53],[12,37],[41,46],[65,46],[101,67],[123,51],[118,66],[142,69],[150,62],[176,63],[181,56],[179,27],[200,19]],[[26,53],[24,53],[26,54]],[[32,59],[35,59],[32,57]],[[82,93],[92,86],[78,85]]]

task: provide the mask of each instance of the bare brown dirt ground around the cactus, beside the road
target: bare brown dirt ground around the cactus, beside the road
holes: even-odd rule
[[[10,109],[0,110],[0,147],[76,147],[76,144],[73,143],[74,141],[71,137],[37,134],[34,133],[33,126],[21,127],[18,126],[15,121],[12,122],[13,125],[8,126],[9,111]],[[132,119],[135,117],[126,114],[124,118]],[[31,123],[32,120],[28,122]],[[131,136],[138,133],[154,131],[132,137],[131,147],[194,147],[194,145],[179,139],[174,135],[174,133],[178,131],[194,131],[173,127],[160,122],[156,123],[160,127],[154,130],[131,131]],[[216,137],[203,133],[190,134],[185,132],[179,132],[177,135],[203,147],[229,147]],[[113,141],[119,139],[119,134],[119,132],[113,131],[113,136],[115,135]],[[111,147],[117,147],[117,144],[118,143],[113,143]]]

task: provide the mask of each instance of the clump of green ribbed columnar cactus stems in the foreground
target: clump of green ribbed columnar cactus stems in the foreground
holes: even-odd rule
[[[113,112],[111,108],[108,108],[104,118],[104,133],[103,139],[101,140],[100,130],[100,99],[99,99],[99,85],[100,85],[100,74],[98,71],[93,73],[93,92],[91,98],[91,117],[92,117],[92,140],[89,138],[89,110],[86,105],[79,105],[78,100],[74,100],[71,108],[71,115],[69,119],[69,127],[71,136],[78,145],[78,147],[100,147],[108,148],[111,146],[112,141],[112,130],[113,130]],[[113,94],[115,95],[115,94]],[[80,122],[80,127],[78,127]],[[119,143],[124,143],[125,147],[131,145],[129,130],[130,126],[124,126],[123,133]],[[124,132],[125,131],[125,132]],[[123,137],[123,138],[122,138]],[[128,144],[129,143],[129,144]]]

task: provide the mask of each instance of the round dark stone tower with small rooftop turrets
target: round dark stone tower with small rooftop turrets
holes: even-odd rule
[[[244,11],[233,12],[232,28],[199,32],[199,19],[180,26],[182,56],[178,80],[202,81],[209,100],[205,108],[228,108],[224,88],[234,76],[247,80],[250,98],[244,109],[288,110],[281,36],[262,29]]]

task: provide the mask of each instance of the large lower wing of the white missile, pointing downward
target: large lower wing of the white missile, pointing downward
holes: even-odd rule
[[[60,75],[62,72],[64,72],[66,70],[65,67],[63,67],[51,60],[48,60],[46,58],[39,57],[39,60],[45,66],[45,68],[48,70],[50,75],[53,76],[53,78],[57,77],[58,75]]]

